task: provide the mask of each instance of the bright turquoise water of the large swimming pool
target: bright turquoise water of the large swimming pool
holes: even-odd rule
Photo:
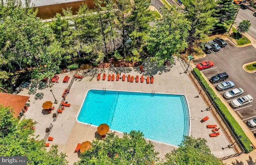
[[[89,90],[78,121],[130,133],[140,130],[144,137],[179,145],[189,133],[189,113],[183,95]]]

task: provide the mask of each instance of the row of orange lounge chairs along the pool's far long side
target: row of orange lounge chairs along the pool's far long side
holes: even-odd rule
[[[103,73],[103,77],[102,77],[102,80],[105,80],[106,79],[106,73]],[[126,75],[125,74],[123,74],[123,76],[122,77],[120,77],[120,74],[118,73],[118,74],[116,74],[116,81],[118,81],[119,79],[122,79],[122,81],[125,81],[125,79],[126,79]],[[100,73],[98,73],[98,77],[97,77],[97,81],[99,81],[100,80]],[[108,74],[108,81],[114,81],[115,80],[115,75],[114,74]],[[133,81],[134,81],[134,76],[131,76],[131,75],[128,75],[127,76],[127,81],[128,82],[131,82],[131,83],[133,83]],[[136,83],[138,83],[139,82],[139,76],[137,75],[136,77],[135,77],[135,82]],[[141,75],[141,77],[140,77],[140,83],[143,83],[144,82],[144,77],[143,77],[143,75]],[[146,83],[147,84],[153,84],[154,83],[154,77],[152,76],[152,77],[146,77]]]

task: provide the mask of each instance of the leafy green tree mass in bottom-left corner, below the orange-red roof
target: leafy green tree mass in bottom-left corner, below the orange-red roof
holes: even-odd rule
[[[66,154],[59,154],[57,145],[46,151],[44,141],[35,139],[34,124],[31,119],[19,121],[9,107],[0,105],[0,155],[27,156],[29,165],[68,165]]]

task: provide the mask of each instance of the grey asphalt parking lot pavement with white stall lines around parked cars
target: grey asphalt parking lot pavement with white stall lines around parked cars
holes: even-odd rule
[[[244,93],[241,96],[250,94],[254,98],[253,102],[246,106],[241,106],[236,109],[232,108],[241,120],[246,122],[247,120],[256,117],[256,73],[247,73],[242,66],[245,63],[256,61],[256,49],[251,45],[246,47],[236,47],[231,41],[227,39],[225,39],[225,41],[228,45],[222,47],[220,51],[212,51],[212,53],[207,54],[206,57],[195,59],[193,61],[195,64],[201,63],[202,61],[213,61],[214,66],[202,70],[202,74],[210,79],[210,77],[218,73],[226,72],[229,75],[227,81],[233,81],[235,83],[234,88],[240,87],[244,90]],[[216,87],[217,84],[219,83],[213,85]],[[222,96],[222,94],[228,90],[219,93]],[[226,100],[226,102],[230,103],[236,98]],[[250,130],[252,133],[256,132],[256,128],[250,128]]]

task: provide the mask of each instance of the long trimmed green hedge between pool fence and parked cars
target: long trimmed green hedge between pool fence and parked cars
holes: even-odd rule
[[[244,131],[242,130],[238,122],[236,122],[234,117],[230,114],[230,112],[228,111],[228,108],[222,103],[220,98],[216,96],[215,92],[212,90],[210,85],[204,79],[201,72],[197,68],[194,68],[193,72],[198,78],[198,80],[201,82],[202,86],[204,87],[206,92],[209,94],[211,99],[214,100],[214,97],[216,97],[216,99],[214,100],[214,104],[218,108],[218,111],[220,112],[220,114],[222,114],[222,117],[228,123],[229,127],[234,132],[234,135],[236,136],[236,138],[238,138],[239,136],[242,136],[242,138],[239,138],[238,141],[241,143],[242,147],[244,148],[244,151],[246,153],[249,153],[250,151],[252,151],[250,139],[246,136],[246,134],[244,133]]]

